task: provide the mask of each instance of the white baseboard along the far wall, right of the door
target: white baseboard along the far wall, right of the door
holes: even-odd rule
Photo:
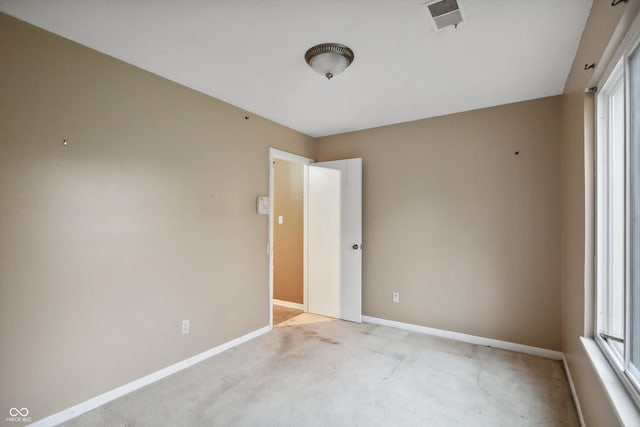
[[[371,316],[362,316],[362,321],[365,323],[373,323],[375,325],[389,326],[391,328],[404,329],[411,332],[418,332],[420,334],[427,334],[441,338],[448,338],[455,341],[462,341],[469,344],[485,345],[502,350],[509,350],[518,353],[530,354],[532,356],[544,357],[546,359],[562,360],[561,352],[548,350],[546,348],[532,347],[529,345],[517,344],[508,341],[494,340],[493,338],[478,337],[476,335],[468,335],[460,332],[445,331],[443,329],[428,328],[426,326],[412,325],[411,323],[396,322],[395,320],[386,320]]]

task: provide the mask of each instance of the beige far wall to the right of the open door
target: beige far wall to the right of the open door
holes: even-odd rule
[[[318,141],[318,161],[363,158],[364,314],[560,349],[559,115],[554,97]]]

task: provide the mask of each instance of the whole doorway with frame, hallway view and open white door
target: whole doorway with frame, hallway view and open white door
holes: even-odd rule
[[[362,321],[362,159],[312,162],[269,150],[271,327],[274,302],[304,314]],[[295,205],[295,213],[287,213],[287,204]],[[300,223],[302,239],[292,238],[286,226],[299,236]],[[283,236],[290,243],[280,241]]]

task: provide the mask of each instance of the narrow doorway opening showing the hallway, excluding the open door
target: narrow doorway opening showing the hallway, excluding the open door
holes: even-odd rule
[[[306,165],[311,162],[311,159],[273,148],[269,153],[272,327],[307,311]]]

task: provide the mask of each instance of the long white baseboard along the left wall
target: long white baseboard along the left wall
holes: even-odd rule
[[[41,420],[38,420],[29,425],[35,426],[35,427],[45,427],[45,426],[48,427],[48,426],[55,426],[55,425],[61,424],[81,414],[89,412],[97,408],[98,406],[104,405],[105,403],[108,403],[114,399],[124,396],[125,394],[131,393],[132,391],[138,390],[139,388],[142,388],[146,385],[149,385],[158,380],[161,380],[162,378],[175,374],[178,371],[186,369],[189,366],[194,365],[198,362],[202,362],[203,360],[213,357],[216,354],[220,354],[225,350],[228,350],[242,343],[250,341],[254,338],[257,338],[260,335],[264,335],[270,330],[271,328],[269,326],[265,326],[253,332],[249,332],[246,335],[242,335],[238,338],[232,339],[231,341],[227,341],[224,344],[220,344],[219,346],[216,346],[212,349],[196,354],[195,356],[191,356],[188,359],[182,360],[180,362],[174,363],[173,365],[167,366],[166,368],[160,369],[159,371],[153,372],[149,375],[145,375],[142,378],[134,380],[128,384],[115,388],[111,391],[103,393],[89,400],[85,400],[82,403],[74,405],[70,408],[65,409],[64,411],[58,412],[46,418],[42,418]]]

